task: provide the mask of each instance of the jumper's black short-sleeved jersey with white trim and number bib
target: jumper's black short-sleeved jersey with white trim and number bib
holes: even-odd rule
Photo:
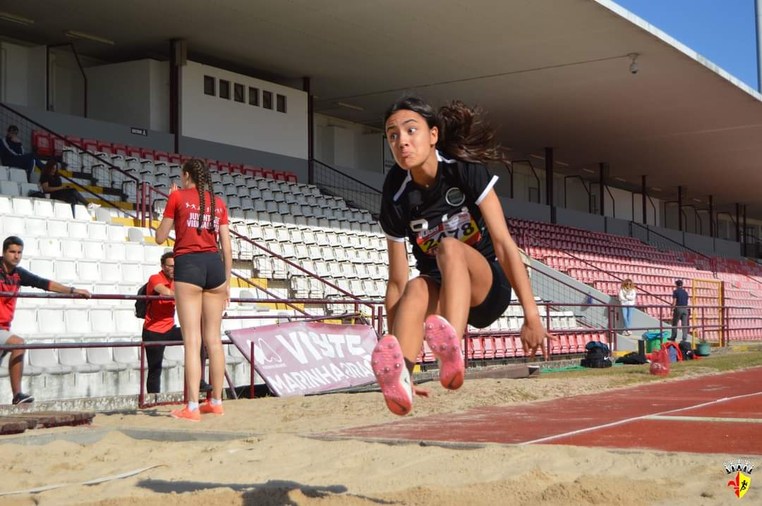
[[[446,158],[437,151],[437,177],[429,188],[395,164],[386,174],[381,196],[381,229],[389,240],[410,240],[421,274],[438,272],[437,248],[444,237],[455,237],[495,259],[495,247],[479,204],[498,180],[487,167]]]

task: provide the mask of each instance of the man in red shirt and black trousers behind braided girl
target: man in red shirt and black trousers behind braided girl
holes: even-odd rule
[[[162,255],[162,270],[148,279],[146,295],[167,295],[174,297],[174,253],[168,251]],[[182,341],[180,327],[174,324],[174,301],[149,301],[146,307],[146,320],[143,322],[143,341]],[[146,392],[159,393],[162,390],[162,362],[165,346],[146,346],[148,377]],[[201,350],[203,364],[203,349]],[[209,390],[209,385],[202,379],[200,390]]]

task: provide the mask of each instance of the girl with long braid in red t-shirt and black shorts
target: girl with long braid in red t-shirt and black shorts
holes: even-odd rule
[[[225,356],[219,329],[230,298],[232,250],[228,210],[225,202],[214,196],[207,165],[195,158],[187,161],[181,184],[182,189],[172,186],[156,242],[167,240],[174,228],[174,298],[185,345],[188,403],[171,415],[198,422],[200,413],[223,414]],[[209,352],[212,398],[199,406],[201,339]]]

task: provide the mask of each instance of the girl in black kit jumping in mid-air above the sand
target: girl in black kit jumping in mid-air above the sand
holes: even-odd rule
[[[437,112],[417,97],[393,103],[384,128],[396,162],[384,180],[380,212],[389,249],[390,334],[379,340],[371,364],[386,406],[406,415],[424,339],[440,361],[442,386],[458,389],[465,377],[466,324],[491,325],[511,303],[511,290],[523,307],[525,354],[533,357],[542,348],[544,355],[550,338],[493,189],[498,177],[484,165],[504,160],[495,132],[461,102]],[[413,279],[406,240],[421,272]]]

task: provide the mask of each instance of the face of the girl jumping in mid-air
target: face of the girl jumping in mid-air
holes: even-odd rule
[[[399,167],[420,167],[437,145],[437,127],[429,128],[426,119],[411,110],[399,110],[386,120],[386,139]]]

